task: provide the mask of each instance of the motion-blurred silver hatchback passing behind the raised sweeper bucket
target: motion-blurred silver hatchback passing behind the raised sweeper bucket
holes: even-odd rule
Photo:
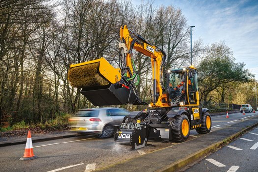
[[[80,109],[69,119],[72,130],[81,134],[98,134],[98,137],[111,137],[113,126],[122,123],[130,112],[121,108]]]

